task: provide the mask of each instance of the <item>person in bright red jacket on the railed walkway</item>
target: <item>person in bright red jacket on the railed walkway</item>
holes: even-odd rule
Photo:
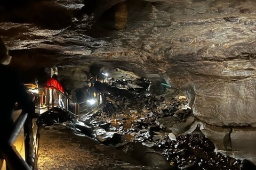
[[[63,88],[62,84],[59,82],[59,80],[57,79],[57,74],[53,74],[52,77],[49,80],[47,80],[47,87],[57,89],[60,92],[62,92],[62,94],[64,94],[64,88]],[[51,97],[51,92],[50,92],[50,98],[52,98]],[[59,99],[60,107],[65,107],[64,103],[62,101],[62,95],[61,94],[59,94],[58,99]]]

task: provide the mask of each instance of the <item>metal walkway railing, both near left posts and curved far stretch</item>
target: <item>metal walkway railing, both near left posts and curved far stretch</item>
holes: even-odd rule
[[[26,85],[29,85],[29,84],[26,84]],[[35,88],[35,86],[33,86],[33,90],[40,90],[40,89],[49,90],[49,88]],[[58,95],[62,95],[63,97],[65,97],[65,101],[67,101],[67,103],[66,103],[67,110],[68,110],[68,106],[69,106],[70,103],[73,103],[76,106],[78,106],[78,109],[75,109],[76,110],[75,115],[78,115],[79,118],[81,118],[81,113],[83,113],[84,111],[86,111],[86,110],[88,110],[89,112],[91,111],[92,106],[88,106],[87,103],[86,103],[87,101],[83,101],[82,103],[77,103],[76,101],[74,101],[70,97],[63,94],[58,89],[55,89],[55,88],[53,88],[53,89],[58,92]],[[47,91],[47,93],[46,93],[47,95],[49,94],[48,92],[49,91]],[[50,96],[47,96],[47,97],[48,97],[47,102],[49,102]],[[99,106],[100,96],[97,95],[96,97],[94,97],[94,99],[95,98],[96,98],[97,103],[98,103],[97,106]],[[53,99],[54,99],[54,95],[52,95],[52,100],[51,100],[52,103],[53,103]],[[47,103],[47,104],[49,105],[49,103]],[[84,107],[87,107],[87,108],[84,109]],[[89,113],[89,112],[87,112],[87,113]],[[7,169],[10,169],[10,170],[31,170],[31,168],[34,168],[35,162],[33,162],[33,160],[31,162],[31,155],[33,155],[31,153],[34,152],[34,150],[31,149],[31,147],[34,148],[34,145],[31,144],[31,140],[34,140],[32,121],[33,121],[33,118],[28,116],[28,113],[25,113],[25,112],[22,111],[20,113],[19,117],[17,118],[17,120],[14,123],[14,129],[13,129],[9,139],[7,140],[7,143],[4,144],[4,146],[1,146],[1,152],[2,152],[1,155],[6,160],[6,166],[7,166],[6,168]],[[26,161],[20,156],[19,152],[13,150],[13,148],[11,147],[12,143],[17,139],[18,135],[20,134],[22,128],[23,128],[23,131],[24,131],[25,159],[26,159]],[[33,145],[33,146],[31,146],[31,145]]]

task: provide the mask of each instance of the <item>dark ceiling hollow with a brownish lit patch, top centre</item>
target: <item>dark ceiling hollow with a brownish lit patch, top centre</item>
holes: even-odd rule
[[[88,35],[98,38],[107,37],[116,30],[140,27],[140,21],[150,19],[152,4],[140,0],[84,1],[84,6],[74,15],[78,19],[82,19],[84,14],[91,18],[89,21],[91,27],[86,32]]]

